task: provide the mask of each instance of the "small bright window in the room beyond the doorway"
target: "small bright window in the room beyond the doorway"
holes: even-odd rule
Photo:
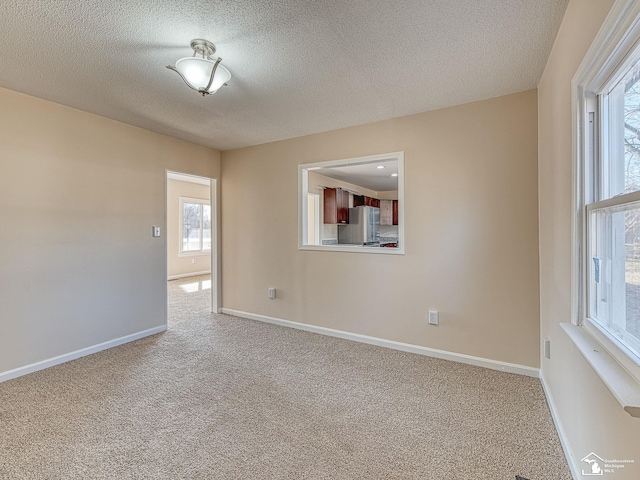
[[[180,198],[180,254],[211,252],[209,200]]]

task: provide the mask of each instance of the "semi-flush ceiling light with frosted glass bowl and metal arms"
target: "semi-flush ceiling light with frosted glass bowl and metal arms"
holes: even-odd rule
[[[191,48],[193,56],[181,58],[175,66],[167,65],[167,68],[180,75],[189,88],[203,97],[216,93],[223,85],[226,86],[231,73],[220,64],[221,58],[211,58],[216,53],[216,46],[208,40],[196,38],[191,40]]]

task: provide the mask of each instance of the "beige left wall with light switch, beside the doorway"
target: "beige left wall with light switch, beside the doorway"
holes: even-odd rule
[[[165,170],[218,177],[219,152],[2,88],[0,105],[0,373],[162,326]]]

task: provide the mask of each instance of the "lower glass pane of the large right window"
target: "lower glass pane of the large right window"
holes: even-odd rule
[[[640,203],[589,215],[589,316],[640,355]]]

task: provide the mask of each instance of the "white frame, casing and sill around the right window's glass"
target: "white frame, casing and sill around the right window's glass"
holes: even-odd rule
[[[572,81],[573,199],[571,323],[563,328],[625,410],[640,416],[640,358],[595,321],[588,318],[587,214],[640,198],[632,193],[598,201],[597,179],[601,151],[601,94],[616,76],[640,55],[640,1],[618,0],[587,52]],[[579,327],[579,328],[575,328]],[[594,348],[594,346],[596,348]]]

